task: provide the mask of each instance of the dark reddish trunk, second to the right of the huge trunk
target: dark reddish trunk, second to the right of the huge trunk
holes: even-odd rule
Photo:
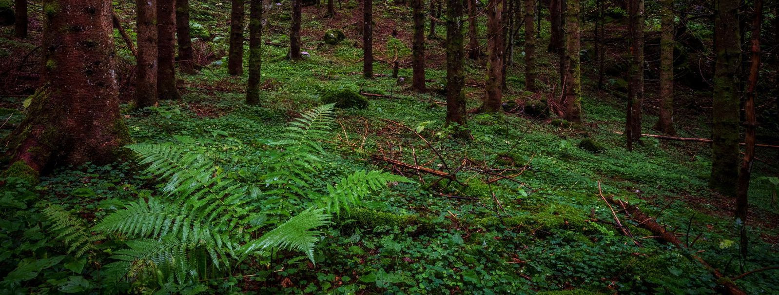
[[[176,13],[174,2],[157,0],[157,97],[178,100],[175,70]]]

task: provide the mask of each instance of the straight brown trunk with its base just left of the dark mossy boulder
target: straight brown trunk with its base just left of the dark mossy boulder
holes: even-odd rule
[[[485,81],[485,100],[480,110],[496,112],[500,110],[502,99],[503,68],[503,0],[490,0],[487,4],[487,81]]]

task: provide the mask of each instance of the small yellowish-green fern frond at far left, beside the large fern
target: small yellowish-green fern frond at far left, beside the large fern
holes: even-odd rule
[[[51,231],[57,234],[55,239],[65,243],[67,253],[76,258],[88,251],[97,250],[95,242],[105,238],[102,234],[91,234],[82,220],[72,216],[62,206],[49,205],[43,212],[51,223]]]

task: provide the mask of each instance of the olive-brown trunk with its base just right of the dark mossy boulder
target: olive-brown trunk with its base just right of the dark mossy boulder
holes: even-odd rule
[[[582,122],[579,12],[579,0],[566,1],[566,120],[576,125]]]

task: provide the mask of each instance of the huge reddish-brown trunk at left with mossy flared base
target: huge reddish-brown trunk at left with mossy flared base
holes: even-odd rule
[[[119,114],[111,2],[46,0],[43,5],[60,8],[44,18],[46,83],[5,139],[9,174],[34,177],[55,165],[111,163],[130,142]]]

